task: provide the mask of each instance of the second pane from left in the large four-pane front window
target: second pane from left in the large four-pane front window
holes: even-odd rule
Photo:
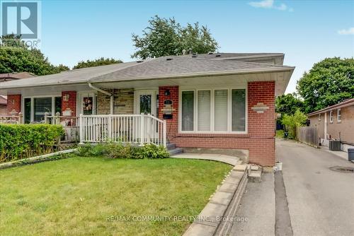
[[[210,90],[198,91],[198,131],[210,131]]]

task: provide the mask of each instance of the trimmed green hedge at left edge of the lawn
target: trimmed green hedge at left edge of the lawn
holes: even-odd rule
[[[0,163],[53,151],[64,129],[52,124],[0,124]]]

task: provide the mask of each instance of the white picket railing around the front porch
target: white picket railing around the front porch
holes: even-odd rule
[[[121,142],[166,147],[166,121],[150,114],[80,114],[80,143]]]

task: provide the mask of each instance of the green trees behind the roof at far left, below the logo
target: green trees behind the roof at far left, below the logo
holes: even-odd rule
[[[69,69],[67,66],[53,66],[38,49],[23,47],[0,47],[0,73],[29,72],[38,76]]]

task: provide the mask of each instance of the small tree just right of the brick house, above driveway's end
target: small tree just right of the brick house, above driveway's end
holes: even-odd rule
[[[278,96],[275,100],[275,111],[281,114],[295,114],[297,110],[304,111],[304,102],[297,93]]]

